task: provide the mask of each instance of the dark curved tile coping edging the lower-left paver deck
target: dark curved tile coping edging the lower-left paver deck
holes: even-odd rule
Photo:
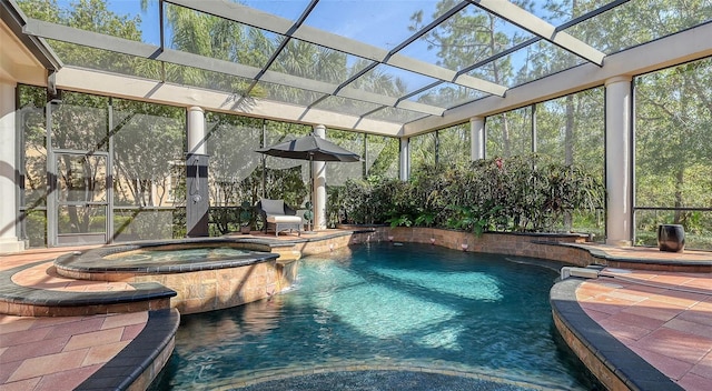
[[[176,309],[149,311],[144,330],[75,390],[128,390],[137,382],[146,389],[172,353],[179,324]]]

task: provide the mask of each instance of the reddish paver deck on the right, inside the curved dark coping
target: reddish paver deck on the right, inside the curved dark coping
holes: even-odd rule
[[[712,274],[606,268],[578,287],[576,300],[685,390],[712,390]]]

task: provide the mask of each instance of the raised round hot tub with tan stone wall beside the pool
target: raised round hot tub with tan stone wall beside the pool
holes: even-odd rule
[[[55,267],[79,280],[161,283],[176,291],[170,305],[185,314],[240,305],[288,288],[296,262],[278,262],[278,257],[268,243],[202,239],[73,252]]]

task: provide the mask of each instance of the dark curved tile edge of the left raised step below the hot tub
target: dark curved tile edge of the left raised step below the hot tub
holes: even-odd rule
[[[130,291],[100,291],[100,292],[70,292],[59,290],[44,290],[31,287],[22,287],[12,281],[16,273],[51,261],[27,263],[17,268],[0,271],[0,301],[41,307],[85,307],[134,303],[159,299],[169,299],[177,293],[157,282],[130,283],[136,290]]]

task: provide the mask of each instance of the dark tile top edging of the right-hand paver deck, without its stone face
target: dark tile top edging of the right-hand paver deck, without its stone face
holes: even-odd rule
[[[560,281],[550,292],[552,312],[574,337],[631,390],[679,391],[678,383],[643,360],[591,319],[576,301],[584,279]],[[591,367],[586,362],[586,367]]]

